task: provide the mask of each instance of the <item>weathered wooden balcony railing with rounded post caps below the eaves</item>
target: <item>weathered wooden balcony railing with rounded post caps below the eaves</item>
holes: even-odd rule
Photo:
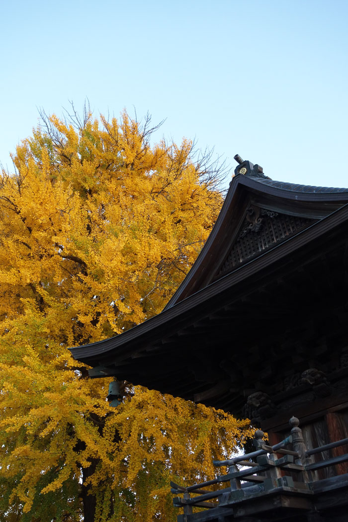
[[[191,515],[193,506],[207,509],[218,507],[220,500],[226,494],[229,496],[230,503],[243,498],[250,499],[253,494],[260,492],[259,487],[253,487],[255,484],[262,484],[262,491],[265,491],[266,494],[274,491],[275,488],[291,488],[291,491],[294,492],[311,494],[313,472],[348,461],[348,454],[323,459],[319,462],[312,462],[311,456],[348,444],[348,438],[307,450],[298,419],[292,417],[289,424],[291,435],[278,444],[268,446],[263,441],[263,432],[256,430],[253,441],[256,446],[254,452],[227,460],[213,461],[214,466],[228,468],[228,473],[225,475],[188,487],[171,482],[171,492],[183,494],[183,496],[173,499],[174,506],[183,507],[184,515]],[[290,444],[292,449],[286,449]],[[297,480],[294,480],[294,477]],[[215,491],[207,489],[212,485],[225,485],[226,483],[229,485],[225,488]]]

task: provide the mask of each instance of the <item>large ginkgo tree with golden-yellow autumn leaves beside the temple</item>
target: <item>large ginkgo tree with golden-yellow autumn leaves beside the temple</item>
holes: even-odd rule
[[[175,520],[169,482],[248,435],[222,411],[88,378],[67,347],[161,311],[222,203],[221,170],[150,118],[42,114],[0,186],[0,518]]]

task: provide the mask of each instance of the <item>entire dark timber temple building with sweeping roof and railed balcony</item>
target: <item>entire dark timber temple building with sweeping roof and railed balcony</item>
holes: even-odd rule
[[[163,312],[71,352],[91,377],[127,379],[260,428],[255,452],[216,463],[227,466],[221,480],[172,484],[179,519],[343,522],[348,189],[272,181],[237,161],[217,223]],[[299,422],[289,425],[292,416]]]

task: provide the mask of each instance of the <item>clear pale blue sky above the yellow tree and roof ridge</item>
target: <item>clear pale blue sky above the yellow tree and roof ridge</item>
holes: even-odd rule
[[[348,186],[348,1],[19,0],[0,7],[0,160],[86,97],[275,180]]]

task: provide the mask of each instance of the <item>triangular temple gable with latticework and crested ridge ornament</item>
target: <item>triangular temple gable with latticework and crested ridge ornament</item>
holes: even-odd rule
[[[167,310],[303,232],[348,203],[348,189],[271,180],[259,165],[239,165],[217,222]]]

